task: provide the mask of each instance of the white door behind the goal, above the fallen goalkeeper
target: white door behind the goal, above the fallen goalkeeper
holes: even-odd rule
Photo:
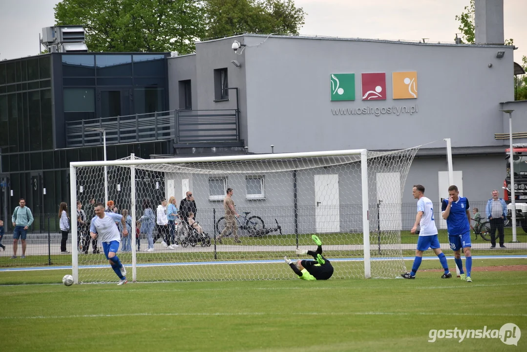
[[[338,175],[315,175],[317,233],[340,232]]]

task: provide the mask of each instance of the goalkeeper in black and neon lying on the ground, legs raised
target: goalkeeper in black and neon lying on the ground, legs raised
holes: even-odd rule
[[[318,246],[315,252],[297,249],[297,254],[309,254],[315,258],[315,260],[299,260],[296,265],[291,262],[287,256],[284,260],[291,267],[291,269],[298,275],[299,279],[302,280],[327,280],[333,275],[333,265],[322,256],[322,242],[317,235],[311,236],[315,244]]]

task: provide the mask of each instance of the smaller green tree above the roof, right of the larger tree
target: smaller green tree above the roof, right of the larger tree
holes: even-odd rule
[[[306,13],[292,0],[207,0],[207,38],[240,33],[296,34]]]

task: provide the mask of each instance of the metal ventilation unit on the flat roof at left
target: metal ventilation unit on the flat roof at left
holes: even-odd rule
[[[86,53],[82,26],[54,26],[42,28],[41,43],[48,53]]]

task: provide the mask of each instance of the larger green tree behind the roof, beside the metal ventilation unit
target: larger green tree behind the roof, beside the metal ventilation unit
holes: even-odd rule
[[[90,51],[194,51],[203,6],[194,0],[63,0],[56,25],[82,25]]]

